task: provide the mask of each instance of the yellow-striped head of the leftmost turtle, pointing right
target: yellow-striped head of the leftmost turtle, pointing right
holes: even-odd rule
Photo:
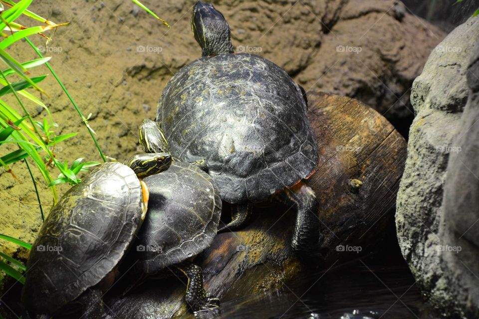
[[[168,153],[138,154],[124,162],[138,178],[161,173],[171,165],[171,155]]]

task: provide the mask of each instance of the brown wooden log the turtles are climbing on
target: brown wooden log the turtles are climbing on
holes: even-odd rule
[[[321,221],[317,254],[309,261],[326,268],[374,251],[393,223],[406,142],[385,118],[354,99],[309,92],[308,105],[321,159],[307,181]],[[228,214],[228,205],[223,211]],[[219,234],[196,259],[207,291],[223,302],[280,288],[307,267],[289,246],[292,209],[255,208],[254,216],[243,230]],[[119,295],[131,277],[126,274],[106,298],[119,318],[170,318],[189,311],[185,279],[151,279]]]

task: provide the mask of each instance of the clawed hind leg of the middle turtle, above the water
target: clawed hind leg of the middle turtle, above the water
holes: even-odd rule
[[[186,302],[194,313],[213,311],[220,308],[220,300],[212,298],[205,292],[203,286],[203,270],[193,263],[183,263],[176,266],[187,278]]]

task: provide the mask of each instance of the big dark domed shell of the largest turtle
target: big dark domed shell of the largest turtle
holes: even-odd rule
[[[247,53],[202,57],[161,96],[157,122],[180,160],[207,160],[223,200],[262,201],[314,172],[316,137],[301,90]]]

